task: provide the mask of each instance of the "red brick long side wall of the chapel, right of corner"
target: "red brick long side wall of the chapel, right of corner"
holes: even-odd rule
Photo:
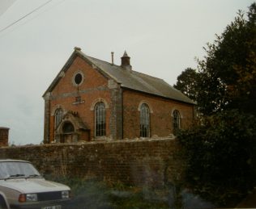
[[[139,137],[139,104],[145,101],[150,107],[151,136],[169,136],[173,133],[172,111],[181,114],[181,128],[190,125],[193,119],[191,105],[173,100],[141,94],[132,90],[123,91],[123,127],[124,138]]]

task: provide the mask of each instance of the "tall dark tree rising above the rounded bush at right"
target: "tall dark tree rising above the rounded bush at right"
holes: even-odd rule
[[[207,56],[198,61],[199,111],[240,109],[256,115],[256,3],[250,6],[248,20],[241,10],[236,19],[207,44]]]

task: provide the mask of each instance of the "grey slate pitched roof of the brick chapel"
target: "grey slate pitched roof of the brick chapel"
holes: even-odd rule
[[[174,89],[173,86],[170,86],[167,82],[164,82],[163,79],[151,77],[147,74],[139,73],[134,70],[124,69],[119,65],[113,65],[92,56],[87,56],[80,51],[80,48],[75,48],[75,52],[70,56],[70,59],[66,62],[66,65],[64,65],[61,72],[49,86],[48,90],[46,90],[45,94],[52,91],[54,86],[57,85],[62,71],[64,71],[64,73],[66,72],[71,62],[74,61],[75,56],[80,56],[83,60],[87,61],[99,70],[100,73],[103,73],[106,77],[112,78],[124,88],[194,104],[190,98],[186,97],[185,94],[182,94],[181,91]]]

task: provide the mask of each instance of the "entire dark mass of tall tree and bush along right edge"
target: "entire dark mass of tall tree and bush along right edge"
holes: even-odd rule
[[[244,16],[207,44],[194,94],[203,117],[178,136],[187,182],[222,206],[256,185],[256,2]]]

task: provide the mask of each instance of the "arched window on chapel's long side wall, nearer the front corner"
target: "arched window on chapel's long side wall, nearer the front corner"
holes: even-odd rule
[[[150,137],[150,115],[147,104],[140,107],[140,137]]]

